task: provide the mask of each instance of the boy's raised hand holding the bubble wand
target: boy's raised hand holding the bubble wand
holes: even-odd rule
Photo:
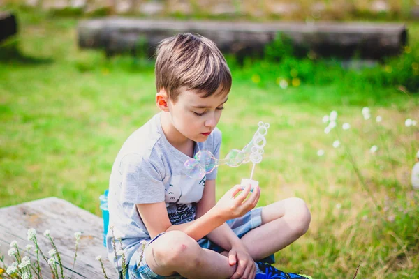
[[[254,209],[260,197],[259,186],[254,186],[253,192],[250,192],[251,185],[249,184],[242,191],[242,186],[236,185],[227,191],[223,197],[216,203],[214,209],[221,213],[221,216],[226,220],[244,216],[251,209]],[[237,195],[237,193],[240,193]],[[249,195],[250,193],[250,195]],[[237,197],[235,197],[237,195]],[[246,199],[249,196],[249,199]]]

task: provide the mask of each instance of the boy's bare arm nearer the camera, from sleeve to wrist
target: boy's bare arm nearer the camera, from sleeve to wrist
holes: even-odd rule
[[[168,211],[165,202],[154,204],[136,204],[138,213],[142,222],[149,232],[151,238],[161,232],[179,230],[191,236],[198,241],[205,235],[210,233],[216,227],[226,222],[226,218],[221,216],[214,209],[207,211],[201,218],[193,220],[189,223],[180,225],[172,225],[169,220]]]

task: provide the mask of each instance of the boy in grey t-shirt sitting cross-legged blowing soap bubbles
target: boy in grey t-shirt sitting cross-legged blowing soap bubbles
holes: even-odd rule
[[[301,199],[254,209],[260,188],[234,186],[216,202],[216,169],[202,180],[184,174],[199,150],[219,158],[216,124],[231,87],[223,55],[191,33],[163,40],[156,54],[161,112],[128,137],[110,176],[110,227],[128,271],[122,275],[110,229],[111,262],[124,278],[302,278],[261,262],[307,231]]]

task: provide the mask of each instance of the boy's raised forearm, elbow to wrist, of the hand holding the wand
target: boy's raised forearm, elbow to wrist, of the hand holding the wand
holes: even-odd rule
[[[182,231],[198,241],[225,222],[225,218],[213,208],[196,220],[180,225],[171,225],[166,229],[166,232],[173,230]]]

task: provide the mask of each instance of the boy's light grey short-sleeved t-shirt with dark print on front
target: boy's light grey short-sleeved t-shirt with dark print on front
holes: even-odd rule
[[[110,174],[109,225],[113,226],[115,238],[122,239],[127,264],[141,248],[140,241],[150,239],[135,204],[165,201],[172,225],[190,222],[195,219],[196,203],[203,195],[205,180],[216,179],[216,169],[203,179],[191,179],[184,174],[184,163],[190,157],[168,142],[160,116],[161,113],[156,114],[128,137]],[[193,154],[208,150],[219,158],[220,145],[221,132],[215,128],[205,142],[196,142]],[[110,262],[121,271],[122,259],[118,256],[117,264],[110,229],[106,243]],[[119,241],[115,241],[115,246],[120,250]]]

